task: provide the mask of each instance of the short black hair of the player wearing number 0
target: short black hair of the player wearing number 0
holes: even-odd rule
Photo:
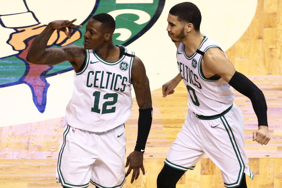
[[[200,30],[202,16],[200,10],[195,4],[191,2],[179,3],[169,10],[169,14],[178,16],[178,21],[192,23],[196,31]]]

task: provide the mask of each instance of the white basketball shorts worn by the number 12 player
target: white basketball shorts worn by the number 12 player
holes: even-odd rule
[[[59,148],[57,183],[68,188],[120,188],[125,182],[124,124],[105,132],[67,125]]]

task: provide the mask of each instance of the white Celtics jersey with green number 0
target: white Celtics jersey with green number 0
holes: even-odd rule
[[[203,55],[209,48],[214,47],[220,48],[207,36],[204,36],[197,52],[190,57],[185,53],[183,43],[179,42],[177,47],[177,66],[188,90],[188,106],[197,115],[217,115],[233,104],[234,91],[225,80],[210,80],[203,75]]]

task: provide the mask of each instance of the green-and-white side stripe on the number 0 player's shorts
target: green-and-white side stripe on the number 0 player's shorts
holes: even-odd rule
[[[222,117],[223,117],[224,120],[222,119]],[[245,164],[244,164],[244,161],[243,161],[243,159],[242,159],[242,157],[241,157],[240,150],[239,150],[238,145],[237,145],[237,143],[236,143],[236,140],[235,140],[234,134],[233,134],[233,132],[232,132],[232,129],[231,129],[231,127],[229,126],[229,124],[228,124],[227,120],[225,119],[225,117],[224,117],[224,116],[222,116],[222,117],[220,117],[220,120],[221,120],[221,122],[223,123],[226,132],[228,133],[230,142],[231,142],[231,144],[232,144],[232,147],[233,147],[233,149],[234,149],[234,152],[235,152],[236,157],[237,157],[237,159],[238,159],[238,162],[239,162],[239,164],[240,164],[240,171],[239,171],[239,174],[238,174],[237,181],[236,181],[235,183],[231,183],[231,184],[226,184],[226,183],[224,183],[224,186],[225,186],[225,187],[239,187],[239,185],[241,184],[241,181],[242,181],[242,179],[243,179],[244,170],[245,170]],[[224,123],[224,122],[225,122],[225,123]],[[227,126],[226,126],[226,125],[227,125]],[[227,128],[227,127],[228,127],[228,128]],[[228,130],[228,129],[230,130],[230,133],[231,133],[231,134],[229,133],[229,130]],[[232,136],[231,136],[231,135],[232,135]],[[235,147],[235,146],[236,146],[236,147]],[[239,158],[239,157],[240,157],[240,158]],[[240,160],[240,159],[241,159],[241,160]],[[240,174],[241,174],[241,176],[240,176]],[[235,184],[238,184],[238,185],[235,185]],[[232,185],[235,185],[235,186],[232,186]]]

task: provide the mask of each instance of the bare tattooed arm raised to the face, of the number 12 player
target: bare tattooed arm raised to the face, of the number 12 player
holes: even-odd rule
[[[50,22],[46,28],[34,39],[31,47],[28,50],[26,60],[34,64],[55,65],[64,61],[70,61],[73,68],[78,70],[82,65],[86,56],[84,47],[69,45],[62,48],[47,48],[48,40],[53,32],[57,29],[66,33],[70,38],[71,28],[80,28],[81,26],[74,25],[72,21],[56,20]],[[67,28],[68,27],[68,31]],[[75,63],[74,63],[75,62]]]

